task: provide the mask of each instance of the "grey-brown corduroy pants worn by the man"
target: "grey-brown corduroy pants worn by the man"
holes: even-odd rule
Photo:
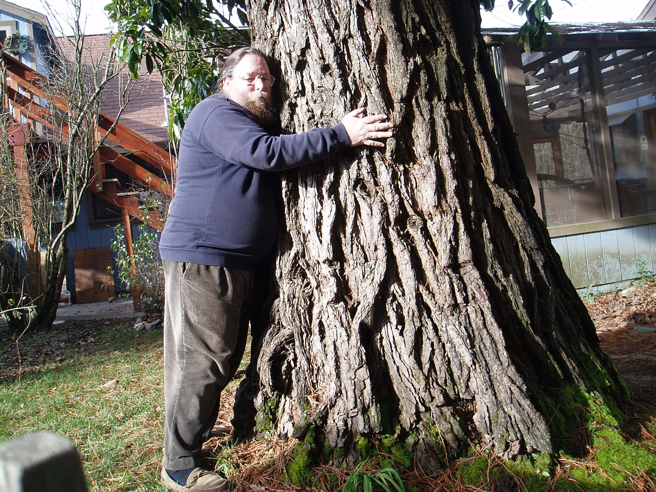
[[[199,466],[243,356],[254,273],[163,260],[164,468]]]

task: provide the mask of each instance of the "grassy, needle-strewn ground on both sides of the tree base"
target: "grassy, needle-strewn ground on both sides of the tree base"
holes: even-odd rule
[[[609,308],[608,302],[598,304],[605,310],[600,319],[610,319],[607,312],[626,311],[625,300],[621,300],[624,311],[621,306]],[[634,304],[632,312],[640,308],[642,313],[644,302],[634,300]],[[613,323],[630,321],[627,316],[622,314]],[[0,333],[0,441],[37,430],[56,432],[77,447],[91,491],[165,491],[157,478],[164,420],[163,336],[161,327],[146,333],[134,331],[133,323],[133,319],[68,321],[18,340],[7,331]],[[438,476],[405,472],[407,491],[510,492],[519,485],[519,490],[540,492],[655,492],[656,409],[651,390],[656,379],[646,380],[644,375],[656,360],[656,334],[636,333],[624,327],[601,334],[605,350],[616,358],[634,395],[643,397],[639,412],[626,412],[630,420],[623,428],[628,435],[603,426],[595,430],[590,424],[593,432],[582,441],[589,445],[588,455],[576,459],[562,455],[558,461],[541,464],[537,472],[484,450],[472,452],[467,459],[451,462]],[[248,358],[247,353],[245,361]],[[636,366],[641,361],[646,365]],[[245,365],[222,394],[217,436],[203,447],[204,466],[235,477],[237,492],[341,490],[348,472],[331,466],[312,470],[312,486],[290,483],[286,466],[296,445],[293,440],[231,444],[234,392]],[[636,372],[643,377],[633,381],[630,376]],[[378,456],[378,462],[363,469],[373,471],[385,459],[394,460],[384,453]]]

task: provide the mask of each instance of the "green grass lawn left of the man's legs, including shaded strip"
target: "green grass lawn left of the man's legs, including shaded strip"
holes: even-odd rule
[[[92,490],[164,490],[161,329],[115,320],[56,328],[19,340],[20,373],[16,342],[2,334],[0,440],[50,430],[75,443]]]

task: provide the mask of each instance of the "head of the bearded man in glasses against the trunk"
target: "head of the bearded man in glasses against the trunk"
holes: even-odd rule
[[[265,87],[264,81],[257,77],[249,82],[242,79],[249,74],[270,75],[266,60],[255,54],[247,54],[236,64],[232,76],[223,81],[223,93],[243,106],[260,121],[272,123],[274,115],[271,102],[271,87]]]

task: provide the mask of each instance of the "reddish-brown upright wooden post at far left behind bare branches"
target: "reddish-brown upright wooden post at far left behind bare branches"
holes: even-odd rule
[[[38,255],[36,233],[34,230],[34,217],[32,215],[32,201],[30,196],[30,175],[28,173],[27,144],[30,140],[30,125],[27,123],[10,123],[9,142],[14,153],[16,164],[16,180],[18,181],[18,207],[23,227],[23,239],[26,242],[26,256],[28,274],[32,295],[41,291],[41,275],[39,275],[41,258]]]

